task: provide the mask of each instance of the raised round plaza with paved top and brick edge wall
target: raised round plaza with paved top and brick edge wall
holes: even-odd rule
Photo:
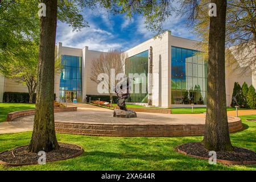
[[[95,106],[94,106],[95,107]],[[137,113],[137,118],[116,118],[113,110],[89,107],[55,113],[57,133],[106,137],[184,137],[204,134],[204,114]],[[11,121],[11,125],[31,127],[34,115]],[[228,117],[229,131],[242,129],[240,118]]]

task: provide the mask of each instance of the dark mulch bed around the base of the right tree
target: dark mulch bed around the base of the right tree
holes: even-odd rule
[[[200,142],[185,143],[178,146],[177,151],[200,159],[209,159],[209,150]],[[225,164],[256,164],[256,152],[246,148],[234,147],[234,151],[216,152],[217,162]]]

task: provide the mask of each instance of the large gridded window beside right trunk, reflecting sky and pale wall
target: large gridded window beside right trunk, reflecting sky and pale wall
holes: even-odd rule
[[[207,62],[199,51],[172,46],[172,104],[206,104]]]

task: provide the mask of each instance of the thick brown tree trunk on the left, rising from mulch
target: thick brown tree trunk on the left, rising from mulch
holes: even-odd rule
[[[59,148],[53,112],[57,0],[41,2],[46,4],[46,17],[40,19],[38,84],[36,85],[34,130],[28,146],[30,152],[42,150],[49,152]]]

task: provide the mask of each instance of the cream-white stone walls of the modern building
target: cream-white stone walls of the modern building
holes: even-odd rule
[[[152,47],[153,60],[153,76],[152,80],[152,105],[160,107],[184,107],[186,105],[172,105],[171,104],[171,47],[180,47],[186,49],[198,50],[197,42],[172,36],[170,31],[167,31],[161,38],[152,38],[135,46],[125,53],[127,57],[131,57],[149,50]],[[86,46],[82,49],[63,47],[62,43],[57,45],[57,54],[79,56],[82,57],[82,101],[85,101],[86,94],[99,95],[97,92],[97,84],[90,80],[92,60],[99,57],[102,53],[100,51],[92,51]],[[200,51],[200,50],[199,50]],[[248,71],[241,75],[239,71],[234,71],[233,68],[226,67],[226,101],[227,106],[231,103],[234,82],[247,82],[250,86],[253,84],[256,88],[256,74]],[[56,100],[59,98],[60,75],[55,76],[55,93]],[[0,77],[0,102],[2,101],[3,92],[27,92],[26,86],[17,84],[14,81]],[[189,106],[189,105],[187,105]],[[202,106],[202,105],[200,105]]]

